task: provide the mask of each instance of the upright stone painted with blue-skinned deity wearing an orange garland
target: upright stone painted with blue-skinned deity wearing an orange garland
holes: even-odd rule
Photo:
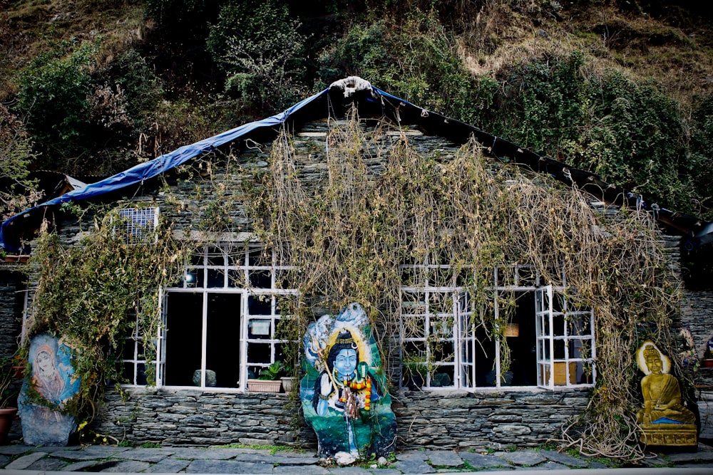
[[[300,398],[319,456],[351,463],[394,451],[396,418],[364,308],[323,315],[304,335]]]

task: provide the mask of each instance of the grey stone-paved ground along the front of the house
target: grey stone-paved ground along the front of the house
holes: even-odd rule
[[[518,450],[477,454],[467,451],[402,451],[388,464],[323,467],[313,451],[161,447],[128,448],[0,446],[0,469],[31,471],[90,471],[163,474],[275,474],[275,475],[401,475],[523,469],[606,468],[601,459],[581,459],[550,450]],[[713,474],[713,448],[660,454],[645,467],[697,467]],[[0,470],[1,473],[1,470]]]

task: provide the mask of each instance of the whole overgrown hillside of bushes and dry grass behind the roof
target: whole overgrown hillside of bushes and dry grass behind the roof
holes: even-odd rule
[[[361,75],[713,219],[696,1],[0,0],[7,215],[30,169],[106,175]]]

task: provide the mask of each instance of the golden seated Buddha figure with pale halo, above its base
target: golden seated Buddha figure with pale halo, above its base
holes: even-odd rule
[[[644,407],[637,413],[637,422],[645,426],[694,424],[696,416],[681,402],[678,380],[668,374],[671,367],[668,357],[662,355],[654,343],[647,341],[640,348],[638,360],[645,376],[641,380]]]

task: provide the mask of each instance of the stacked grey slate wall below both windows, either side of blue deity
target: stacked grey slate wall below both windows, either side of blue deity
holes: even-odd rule
[[[556,436],[585,409],[588,391],[400,391],[393,400],[399,449],[503,449]],[[133,444],[316,448],[292,404],[284,394],[132,388],[125,399],[107,395],[95,429]]]

